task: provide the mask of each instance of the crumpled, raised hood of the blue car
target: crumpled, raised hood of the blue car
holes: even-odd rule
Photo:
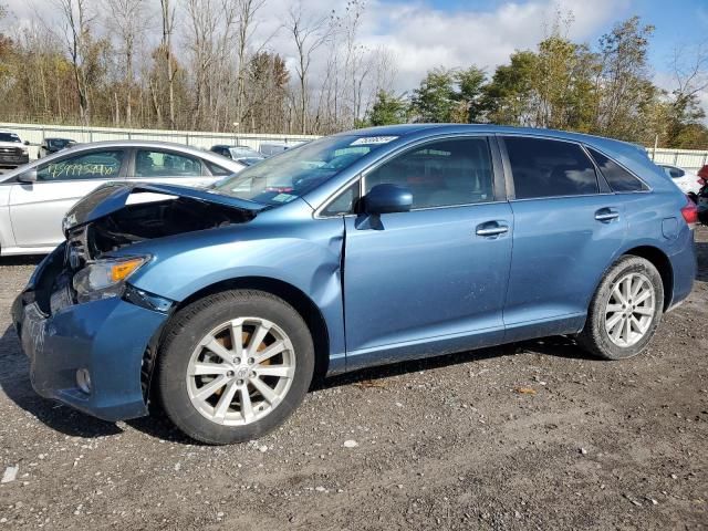
[[[170,197],[188,198],[200,202],[210,202],[237,210],[257,212],[267,208],[259,202],[238,199],[217,194],[205,188],[191,188],[175,185],[148,185],[140,183],[110,183],[81,199],[72,207],[62,222],[64,233],[69,230],[90,223],[124,208],[133,194],[148,192]]]

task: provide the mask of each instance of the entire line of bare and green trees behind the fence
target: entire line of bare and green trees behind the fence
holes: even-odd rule
[[[439,67],[400,94],[393,54],[362,43],[365,0],[325,14],[293,2],[263,38],[268,1],[55,0],[52,28],[3,24],[0,121],[308,134],[489,122],[708,148],[708,53],[677,53],[674,88],[659,88],[654,29],[636,17],[589,45],[559,15],[535,50],[493,72]]]

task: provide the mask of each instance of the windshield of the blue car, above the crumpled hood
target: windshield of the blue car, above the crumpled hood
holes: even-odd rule
[[[330,136],[283,152],[220,180],[215,190],[263,205],[282,205],[316,188],[395,136]]]

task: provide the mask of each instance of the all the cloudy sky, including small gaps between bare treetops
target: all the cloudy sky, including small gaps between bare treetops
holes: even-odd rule
[[[17,17],[15,24],[37,17],[37,13],[41,13],[50,27],[59,23],[52,0],[4,1]],[[152,2],[156,3],[156,0]],[[393,52],[398,71],[395,88],[403,91],[416,86],[428,70],[439,65],[458,67],[476,64],[493,71],[494,66],[507,62],[514,50],[538,43],[548,33],[548,24],[552,22],[556,8],[573,13],[569,37],[584,41],[608,28],[631,2],[518,0],[490,2],[491,7],[485,10],[457,8],[442,11],[431,8],[426,0],[368,0],[361,40],[372,50],[385,46]],[[91,3],[100,10],[100,0]],[[287,60],[294,59],[294,53],[282,24],[293,3],[293,0],[266,0],[256,35],[258,41],[275,33],[269,41],[269,48]],[[332,10],[343,12],[346,0],[303,0],[302,4],[310,13],[326,15]],[[157,12],[154,19],[157,24]],[[155,25],[153,31],[157,35],[159,28]]]

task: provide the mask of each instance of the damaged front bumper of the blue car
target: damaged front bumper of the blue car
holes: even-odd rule
[[[12,320],[34,391],[104,420],[147,415],[140,368],[167,314],[112,298],[45,315],[31,299],[14,301]],[[76,384],[80,368],[91,374],[90,394]]]

